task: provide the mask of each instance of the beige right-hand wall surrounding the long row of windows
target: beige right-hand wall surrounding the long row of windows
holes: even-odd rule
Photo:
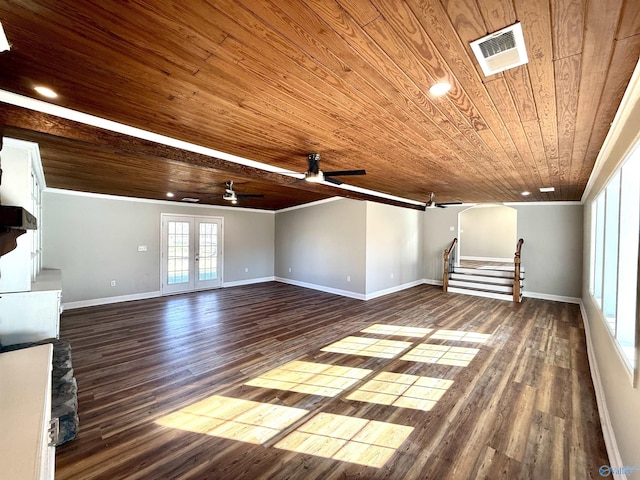
[[[614,126],[615,134],[605,142],[605,156],[598,161],[591,179],[591,188],[584,198],[584,275],[582,281],[582,302],[587,315],[590,330],[590,341],[593,345],[593,358],[599,370],[602,395],[604,397],[610,424],[603,425],[605,438],[610,433],[615,438],[620,455],[621,465],[640,465],[640,388],[634,388],[630,372],[618,354],[613,337],[605,324],[604,318],[589,293],[590,252],[591,252],[591,203],[608,181],[611,173],[624,160],[633,145],[640,142],[640,79],[638,68],[630,90],[628,109],[625,110],[623,122]],[[640,252],[626,252],[629,261],[636,261]],[[640,328],[636,324],[636,328]],[[636,345],[637,348],[637,345]],[[636,350],[636,355],[638,354]],[[596,385],[596,388],[598,386]],[[630,478],[640,478],[635,471]]]

